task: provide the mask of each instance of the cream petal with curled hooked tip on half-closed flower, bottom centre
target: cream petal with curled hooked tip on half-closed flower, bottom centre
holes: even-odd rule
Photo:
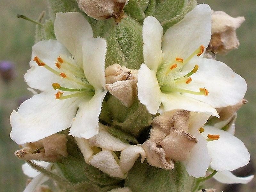
[[[132,145],[126,149],[124,149],[120,154],[120,162],[119,165],[124,173],[127,173],[138,157],[141,156],[141,163],[144,162],[147,154],[141,145]]]

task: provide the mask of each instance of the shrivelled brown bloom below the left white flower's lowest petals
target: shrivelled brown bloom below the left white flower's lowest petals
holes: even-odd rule
[[[26,143],[25,147],[14,153],[18,158],[29,161],[39,160],[56,162],[68,156],[67,138],[64,134],[53,134],[42,140]]]

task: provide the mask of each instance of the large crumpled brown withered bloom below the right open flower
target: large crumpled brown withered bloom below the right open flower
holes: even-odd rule
[[[188,132],[190,112],[168,111],[153,119],[150,138],[143,144],[148,163],[164,169],[173,169],[175,161],[186,160],[197,143]]]

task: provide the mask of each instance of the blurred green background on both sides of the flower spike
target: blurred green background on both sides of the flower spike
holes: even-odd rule
[[[255,0],[200,0],[207,3],[213,10],[227,12],[233,17],[244,16],[245,22],[237,30],[240,40],[239,49],[233,50],[226,56],[217,56],[228,64],[236,73],[243,76],[248,84],[245,99],[249,100],[238,111],[236,121],[236,136],[244,141],[251,153],[252,164],[256,164],[256,3]],[[23,191],[27,177],[21,170],[22,161],[14,156],[19,149],[10,138],[11,126],[9,116],[17,109],[20,101],[32,94],[27,90],[23,75],[29,68],[29,60],[34,44],[35,24],[18,19],[17,14],[24,14],[37,19],[43,10],[47,9],[44,0],[1,0],[0,3],[0,61],[10,60],[15,64],[15,78],[6,83],[0,79],[0,191]],[[22,134],[22,133],[21,133]],[[255,179],[248,185],[243,185],[240,191],[256,191]],[[221,188],[214,181],[206,187]],[[235,191],[235,190],[234,190]]]

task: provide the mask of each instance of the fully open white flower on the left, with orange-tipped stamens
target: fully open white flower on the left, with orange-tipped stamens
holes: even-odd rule
[[[32,47],[31,69],[24,77],[41,93],[11,114],[11,138],[18,144],[68,127],[76,137],[91,138],[98,133],[106,94],[106,41],[93,38],[90,24],[77,12],[57,13],[54,32],[57,41],[40,41]],[[53,87],[60,91],[56,93]]]

